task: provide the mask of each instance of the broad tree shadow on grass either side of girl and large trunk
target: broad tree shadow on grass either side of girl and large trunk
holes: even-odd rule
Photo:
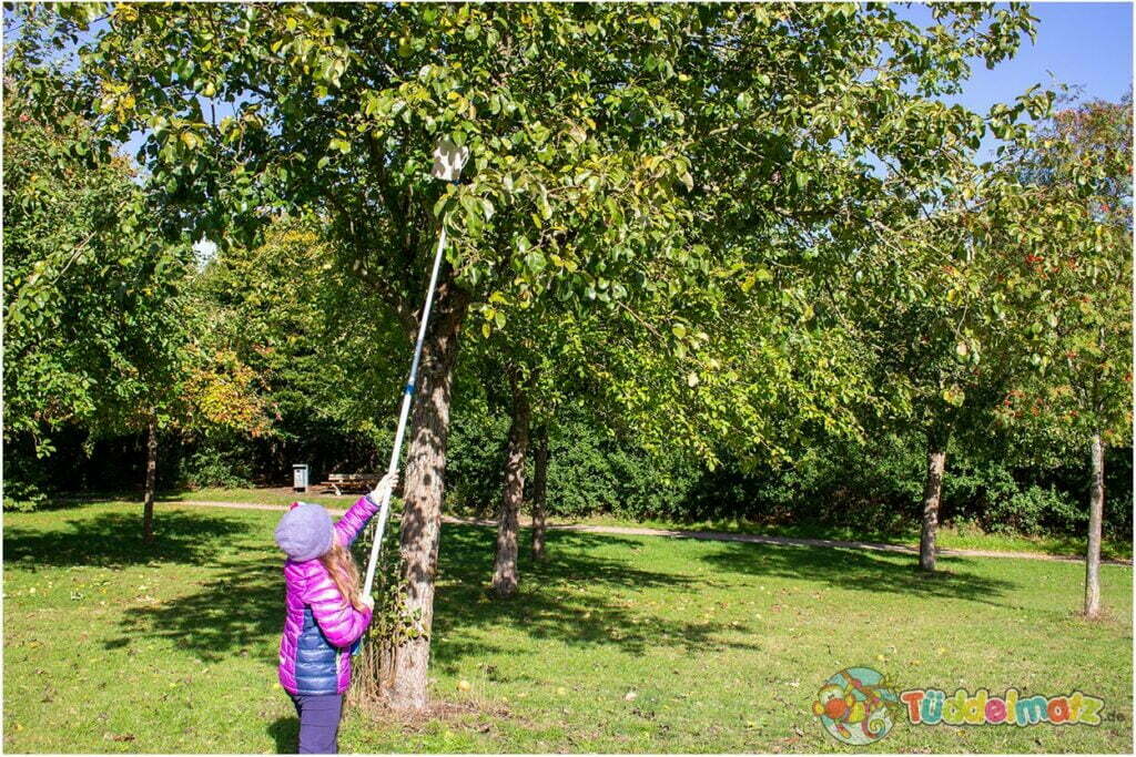
[[[533,639],[557,639],[570,646],[596,646],[641,653],[660,644],[691,648],[725,646],[716,634],[744,631],[716,622],[669,621],[635,613],[613,596],[618,589],[670,587],[678,594],[698,590],[702,581],[685,575],[640,570],[620,560],[592,554],[598,547],[638,542],[618,537],[582,533],[550,533],[552,556],[533,565],[523,557],[521,592],[509,600],[490,597],[486,586],[492,574],[492,529],[448,524],[443,535],[436,592],[434,638],[435,662],[453,670],[467,656],[508,651],[473,629],[511,626]],[[207,662],[233,655],[259,655],[275,666],[274,647],[284,613],[284,583],[279,561],[225,556],[198,590],[156,606],[133,607],[122,620],[123,634],[108,647],[128,645],[139,637],[173,640]],[[580,591],[584,589],[584,591]],[[585,613],[587,615],[585,615]],[[492,634],[490,634],[492,638]],[[758,648],[733,641],[728,646]]]

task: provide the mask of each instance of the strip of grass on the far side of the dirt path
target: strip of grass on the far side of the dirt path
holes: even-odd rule
[[[333,494],[321,494],[317,490],[312,490],[304,495],[295,495],[284,488],[206,488],[168,493],[164,495],[162,498],[166,501],[203,499],[214,502],[251,502],[275,505],[284,505],[293,499],[302,498],[307,502],[319,502],[327,504],[328,506],[346,507],[350,506],[351,502],[353,502],[358,496],[358,494],[354,494],[336,497]],[[594,525],[641,525],[661,529],[728,531],[732,533],[761,533],[765,536],[782,536],[790,538],[838,539],[844,541],[875,541],[879,544],[899,544],[912,547],[919,546],[919,528],[917,523],[912,523],[909,529],[895,532],[864,531],[862,529],[858,530],[837,525],[820,525],[816,523],[753,523],[742,520],[701,520],[678,522],[649,519],[643,521],[633,521],[611,515],[593,515],[590,518],[571,519],[567,521],[558,521],[553,519],[553,521]],[[986,533],[977,528],[952,528],[950,525],[944,525],[939,529],[937,542],[941,548],[946,549],[1038,552],[1051,555],[1074,556],[1083,556],[1085,554],[1085,539],[1081,537],[1024,537],[1005,533]],[[1108,560],[1131,560],[1133,546],[1130,541],[1105,538],[1101,545],[1101,554]]]

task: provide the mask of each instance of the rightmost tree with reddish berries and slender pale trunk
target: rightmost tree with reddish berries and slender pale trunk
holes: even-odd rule
[[[1036,194],[1024,263],[1052,304],[1028,327],[1044,337],[1034,360],[1046,375],[1008,395],[1002,415],[1043,429],[1044,443],[1089,448],[1089,617],[1101,612],[1105,447],[1131,438],[1131,132],[1130,94],[1076,103],[1013,163]]]

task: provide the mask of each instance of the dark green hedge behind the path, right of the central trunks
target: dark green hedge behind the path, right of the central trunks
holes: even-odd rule
[[[926,457],[914,435],[816,445],[793,463],[761,465],[747,473],[736,464],[707,471],[667,455],[651,456],[578,419],[560,423],[550,441],[552,516],[740,519],[883,531],[910,530],[919,522]],[[1129,454],[1113,451],[1106,463],[1105,530],[1113,535],[1131,532]],[[498,469],[492,481],[499,479]],[[952,447],[941,518],[986,531],[1080,533],[1087,496],[1081,461],[1014,468],[982,452]]]

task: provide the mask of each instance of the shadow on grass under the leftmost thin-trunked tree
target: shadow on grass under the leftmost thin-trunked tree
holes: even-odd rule
[[[224,540],[251,530],[239,519],[162,511],[154,514],[154,540],[142,539],[142,513],[108,512],[65,521],[66,529],[42,530],[6,525],[5,561],[36,566],[93,565],[112,567],[150,562],[204,564]]]

